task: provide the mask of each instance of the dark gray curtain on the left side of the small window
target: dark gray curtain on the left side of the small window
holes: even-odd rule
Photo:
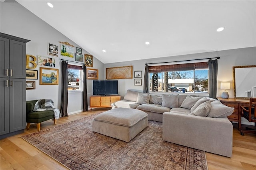
[[[61,117],[68,116],[68,62],[61,62]]]

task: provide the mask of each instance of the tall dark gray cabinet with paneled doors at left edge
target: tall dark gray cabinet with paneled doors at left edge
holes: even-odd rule
[[[26,42],[0,33],[0,134],[1,138],[26,128]]]

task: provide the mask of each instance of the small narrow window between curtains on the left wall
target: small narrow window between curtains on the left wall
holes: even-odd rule
[[[68,90],[82,90],[82,66],[68,65]]]

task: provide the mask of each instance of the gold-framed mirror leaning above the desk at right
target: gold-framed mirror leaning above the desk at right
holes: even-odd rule
[[[256,65],[234,66],[234,98],[256,97]]]

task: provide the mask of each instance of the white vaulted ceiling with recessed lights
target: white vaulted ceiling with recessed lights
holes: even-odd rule
[[[103,63],[256,46],[254,0],[16,1]]]

